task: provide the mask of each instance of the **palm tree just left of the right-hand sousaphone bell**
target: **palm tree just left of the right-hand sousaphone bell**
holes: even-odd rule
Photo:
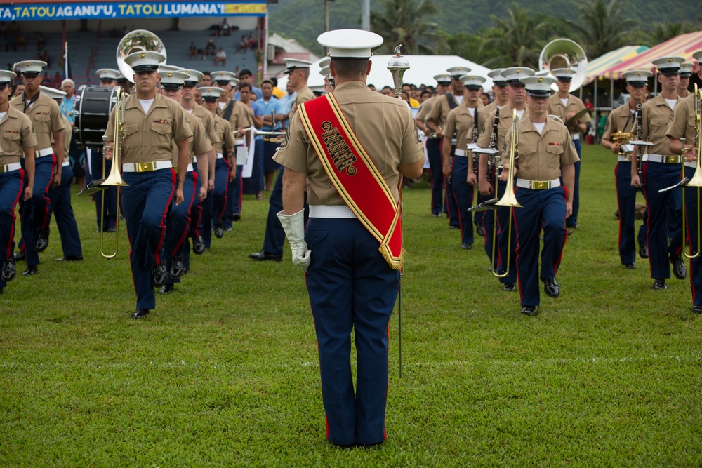
[[[487,39],[481,48],[493,48],[502,51],[501,55],[484,62],[486,67],[512,67],[520,65],[538,69],[538,55],[543,45],[543,32],[546,23],[537,22],[529,11],[522,10],[517,4],[512,4],[507,18],[490,15],[495,28],[503,32],[501,36]]]

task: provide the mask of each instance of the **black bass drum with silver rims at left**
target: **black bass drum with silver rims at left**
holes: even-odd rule
[[[81,148],[102,148],[110,112],[117,102],[117,89],[106,86],[81,86],[76,93],[77,143]]]

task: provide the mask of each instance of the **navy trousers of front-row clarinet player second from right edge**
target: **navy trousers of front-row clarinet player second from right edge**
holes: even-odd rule
[[[644,196],[649,210],[648,243],[649,265],[651,278],[670,278],[670,262],[668,255],[678,255],[682,249],[682,235],[668,232],[668,199],[677,198],[675,206],[680,206],[677,213],[682,216],[682,191],[668,190],[659,193],[658,190],[680,182],[680,165],[647,161],[644,165]],[[687,195],[687,194],[686,194]],[[621,216],[621,212],[620,212]],[[668,238],[672,241],[668,245]]]

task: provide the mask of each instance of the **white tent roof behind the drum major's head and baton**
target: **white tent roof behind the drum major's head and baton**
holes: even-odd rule
[[[391,57],[392,55],[373,55],[371,58],[373,66],[366,82],[376,86],[378,91],[383,86],[393,86],[392,74],[388,72],[388,62]],[[402,80],[405,83],[413,83],[416,86],[420,84],[436,86],[435,75],[444,73],[451,67],[468,67],[471,73],[483,76],[487,80],[483,85],[485,91],[492,88],[492,80],[487,76],[491,71],[489,68],[465,60],[458,55],[405,55],[405,57],[409,60],[409,70],[405,72]],[[319,74],[321,61],[322,59],[317,60],[310,67],[310,79],[307,81],[310,87],[324,85],[324,78]],[[287,75],[279,76],[278,88],[284,90],[287,81]]]

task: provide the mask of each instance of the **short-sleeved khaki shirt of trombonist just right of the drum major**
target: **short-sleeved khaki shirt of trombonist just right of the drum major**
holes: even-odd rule
[[[509,148],[510,145],[512,128],[505,140],[505,147]],[[517,151],[517,178],[520,179],[557,179],[561,176],[561,168],[580,161],[568,129],[552,119],[546,119],[541,135],[529,117],[522,119],[519,122]]]

